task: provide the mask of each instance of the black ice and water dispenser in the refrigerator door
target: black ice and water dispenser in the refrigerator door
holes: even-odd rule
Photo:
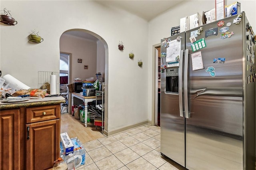
[[[165,80],[165,92],[166,93],[178,93],[178,78],[179,78],[179,68],[178,67],[170,67],[166,68],[166,80]]]

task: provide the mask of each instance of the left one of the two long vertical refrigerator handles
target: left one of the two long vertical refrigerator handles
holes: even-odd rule
[[[179,67],[179,77],[178,77],[178,88],[179,88],[179,106],[180,106],[180,117],[183,117],[183,101],[182,101],[182,66],[183,66],[183,52],[180,51],[180,67]]]

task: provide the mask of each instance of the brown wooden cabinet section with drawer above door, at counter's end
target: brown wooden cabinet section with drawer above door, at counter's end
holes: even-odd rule
[[[26,169],[52,168],[60,156],[60,105],[26,109]]]

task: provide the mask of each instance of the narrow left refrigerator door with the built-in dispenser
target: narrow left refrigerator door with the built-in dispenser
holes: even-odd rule
[[[181,37],[181,50],[185,49],[185,33],[180,33],[170,37],[175,40]],[[166,52],[164,45],[161,46],[161,53]],[[180,56],[183,57],[183,56]],[[183,58],[182,58],[183,59]],[[166,57],[162,57],[163,65],[167,66]],[[182,64],[180,63],[180,67]],[[167,68],[171,70],[171,68]],[[177,70],[177,67],[174,69]],[[182,73],[179,71],[179,78]],[[178,82],[178,86],[183,86]],[[166,93],[166,73],[161,73],[161,154],[171,158],[180,165],[185,166],[185,124],[184,117],[180,116],[179,97],[182,93]],[[182,113],[183,111],[181,111]]]

